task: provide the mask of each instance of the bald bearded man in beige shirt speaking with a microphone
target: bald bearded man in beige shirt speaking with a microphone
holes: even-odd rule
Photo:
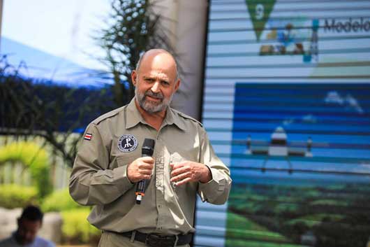
[[[193,118],[170,108],[180,85],[175,59],[145,52],[131,75],[135,98],[87,127],[70,179],[73,199],[94,205],[89,222],[103,230],[99,246],[188,246],[195,195],[223,204],[230,172]],[[146,138],[153,157],[141,157]],[[141,204],[138,181],[149,180]]]

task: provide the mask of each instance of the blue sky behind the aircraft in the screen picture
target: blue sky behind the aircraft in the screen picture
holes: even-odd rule
[[[268,148],[272,133],[280,126],[290,148],[306,150],[306,141],[311,137],[313,157],[290,157],[293,174],[269,171],[288,168],[286,160],[269,157],[265,173],[238,169],[239,179],[234,181],[245,183],[243,179],[248,177],[256,183],[369,183],[369,95],[370,85],[366,83],[237,83],[234,143],[245,143],[250,135],[252,149]],[[265,143],[253,146],[253,141]],[[263,157],[246,155],[246,145],[232,146],[231,167],[260,168],[263,161]]]

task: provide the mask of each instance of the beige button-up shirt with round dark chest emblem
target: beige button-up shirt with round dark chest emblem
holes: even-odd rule
[[[138,205],[136,185],[128,180],[126,167],[141,157],[145,138],[156,140],[155,165],[145,197]],[[170,162],[183,160],[206,164],[212,181],[173,185]],[[69,189],[76,202],[94,205],[88,220],[101,230],[186,234],[195,231],[196,193],[203,202],[223,204],[230,186],[230,171],[214,154],[198,121],[169,107],[157,132],[142,118],[133,99],[89,124],[75,159]]]

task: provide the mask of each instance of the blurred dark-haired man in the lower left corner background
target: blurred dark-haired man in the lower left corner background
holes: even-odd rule
[[[43,225],[43,213],[38,207],[27,206],[17,223],[17,231],[8,239],[0,241],[0,247],[55,247],[51,241],[37,237]]]

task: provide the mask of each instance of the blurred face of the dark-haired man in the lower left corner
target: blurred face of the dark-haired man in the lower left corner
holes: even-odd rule
[[[31,244],[40,227],[40,220],[18,219],[17,241],[22,245]]]

